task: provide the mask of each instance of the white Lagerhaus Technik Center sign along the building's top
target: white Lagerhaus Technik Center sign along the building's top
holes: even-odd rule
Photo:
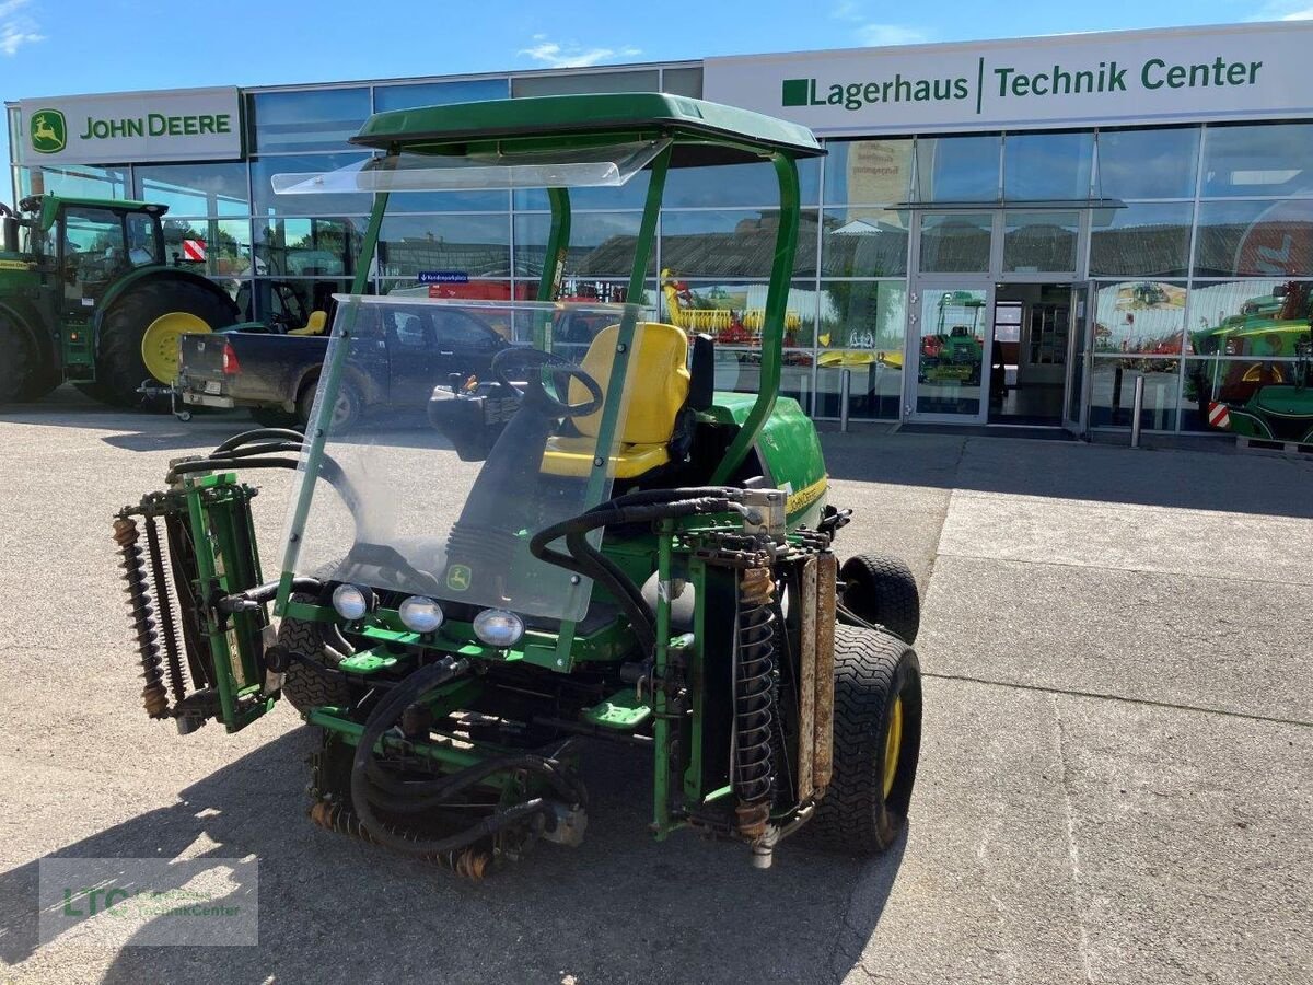
[[[822,133],[1313,116],[1301,22],[708,59],[706,98]]]

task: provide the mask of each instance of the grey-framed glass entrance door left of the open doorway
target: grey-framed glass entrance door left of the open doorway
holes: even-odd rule
[[[907,418],[983,424],[989,414],[994,284],[983,277],[920,278],[911,296]]]

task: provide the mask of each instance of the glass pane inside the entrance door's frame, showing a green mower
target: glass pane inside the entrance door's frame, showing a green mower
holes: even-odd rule
[[[974,418],[985,368],[983,290],[926,288],[916,340],[916,412]]]

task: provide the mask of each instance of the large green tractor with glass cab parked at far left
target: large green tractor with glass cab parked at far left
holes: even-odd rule
[[[30,196],[0,205],[0,406],[66,380],[117,406],[169,382],[177,339],[238,320],[215,284],[164,253],[167,206]]]

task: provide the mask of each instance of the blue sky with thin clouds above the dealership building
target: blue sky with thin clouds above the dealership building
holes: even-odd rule
[[[0,0],[0,98],[1313,18],[1313,0],[1064,4]],[[0,120],[0,147],[7,134]]]

